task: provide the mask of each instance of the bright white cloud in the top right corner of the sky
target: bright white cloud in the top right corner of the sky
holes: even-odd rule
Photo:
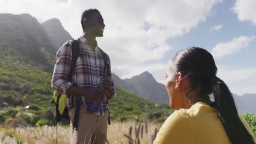
[[[240,21],[250,21],[256,25],[256,1],[255,0],[236,0],[232,10],[237,14]]]

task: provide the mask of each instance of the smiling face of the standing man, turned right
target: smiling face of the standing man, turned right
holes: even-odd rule
[[[95,37],[103,37],[105,24],[101,14],[92,14],[92,17],[89,21],[91,23],[91,26],[88,28],[88,31],[90,31],[90,33]]]

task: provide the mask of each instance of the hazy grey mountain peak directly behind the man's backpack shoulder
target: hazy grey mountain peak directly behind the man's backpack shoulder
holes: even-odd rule
[[[59,50],[67,40],[73,39],[58,19],[50,19],[43,22],[42,25],[56,50]]]

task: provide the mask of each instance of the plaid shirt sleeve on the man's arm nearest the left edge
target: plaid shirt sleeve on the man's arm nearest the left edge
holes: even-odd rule
[[[68,81],[68,73],[72,59],[71,42],[67,41],[56,53],[57,61],[54,66],[51,87],[61,94],[65,94],[67,89],[72,86]]]

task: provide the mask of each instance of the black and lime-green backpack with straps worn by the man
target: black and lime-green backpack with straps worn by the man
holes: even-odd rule
[[[68,80],[70,81],[72,79],[72,73],[75,65],[77,64],[77,59],[79,56],[79,41],[78,40],[73,40],[71,42],[72,46],[72,60],[71,60],[71,65],[69,69],[69,74],[68,74]],[[108,64],[107,64],[107,54],[100,49],[101,56],[103,58],[104,62],[104,73],[107,70]],[[69,115],[68,115],[68,107],[67,107],[67,94],[60,94],[56,90],[54,91],[53,94],[53,101],[52,104],[55,103],[55,109],[56,109],[56,123],[61,122],[62,118],[68,119],[69,120]],[[81,104],[81,97],[71,97],[72,99],[72,107],[74,107],[74,99],[75,99],[75,113],[74,113],[74,123],[73,123],[73,129],[78,128],[78,118],[79,118],[79,111],[80,111],[80,104]],[[108,104],[108,98],[107,98],[107,104]],[[108,110],[108,109],[107,109]],[[108,124],[110,124],[110,113],[108,110]]]

